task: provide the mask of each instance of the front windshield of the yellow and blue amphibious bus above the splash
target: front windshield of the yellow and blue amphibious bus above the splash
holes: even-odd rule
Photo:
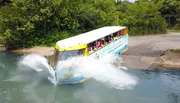
[[[83,49],[81,50],[69,50],[69,51],[59,51],[57,55],[57,61],[66,60],[75,56],[82,56]]]

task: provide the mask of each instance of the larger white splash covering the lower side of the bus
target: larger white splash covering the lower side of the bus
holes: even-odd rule
[[[81,73],[87,78],[93,78],[116,89],[131,89],[137,84],[137,78],[119,69],[126,69],[118,67],[121,62],[121,58],[113,55],[106,55],[100,60],[89,57],[74,57],[60,61],[57,70],[67,69],[74,73]]]

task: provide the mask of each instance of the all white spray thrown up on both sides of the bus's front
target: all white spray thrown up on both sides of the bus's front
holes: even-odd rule
[[[116,89],[131,89],[137,84],[137,78],[121,70],[121,68],[126,69],[119,66],[121,62],[120,57],[112,55],[106,55],[99,60],[90,57],[73,57],[60,61],[56,69],[57,71],[66,69],[71,73],[81,73],[84,77],[93,78]],[[47,59],[37,54],[23,56],[19,61],[19,68],[23,73],[24,71],[28,74],[30,71],[36,72],[35,76],[29,75],[33,76],[33,79],[47,78],[50,74],[52,78],[48,77],[48,79],[55,83],[54,71],[50,71],[49,67]]]

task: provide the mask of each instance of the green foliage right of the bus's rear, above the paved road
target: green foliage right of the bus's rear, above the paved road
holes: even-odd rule
[[[165,33],[166,22],[159,12],[161,6],[162,2],[149,0],[120,2],[117,5],[120,25],[127,26],[130,35]]]

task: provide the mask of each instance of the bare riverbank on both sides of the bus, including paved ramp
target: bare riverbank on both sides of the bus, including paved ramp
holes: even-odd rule
[[[134,69],[179,68],[180,53],[167,52],[169,49],[180,48],[180,33],[164,35],[130,36],[129,49],[122,56],[121,64]],[[52,55],[54,47],[34,47],[13,50],[15,53],[36,53]]]

